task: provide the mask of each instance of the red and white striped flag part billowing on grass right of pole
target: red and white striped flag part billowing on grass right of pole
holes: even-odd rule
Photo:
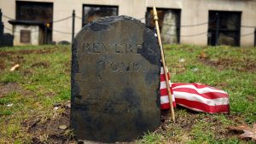
[[[197,112],[230,112],[229,95],[205,84],[172,84],[177,105]]]

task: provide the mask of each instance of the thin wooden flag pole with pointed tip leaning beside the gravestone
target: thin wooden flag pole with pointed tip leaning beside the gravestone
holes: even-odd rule
[[[168,91],[168,98],[169,98],[170,109],[171,109],[171,113],[172,113],[172,121],[173,121],[173,123],[175,123],[175,114],[174,114],[174,109],[173,109],[173,104],[172,104],[172,94],[171,94],[168,74],[166,72],[167,71],[166,60],[165,60],[165,55],[164,55],[164,51],[163,51],[163,45],[162,45],[162,41],[161,41],[161,37],[160,37],[160,30],[159,30],[159,25],[158,25],[158,16],[157,16],[157,12],[156,12],[155,6],[153,6],[153,14],[154,14],[154,23],[155,23],[158,43],[160,45],[161,60],[162,60],[162,64],[163,64],[164,72],[165,72],[166,87],[167,87],[167,91]]]

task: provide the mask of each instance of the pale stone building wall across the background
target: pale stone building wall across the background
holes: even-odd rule
[[[181,26],[195,25],[208,20],[209,10],[241,11],[242,26],[256,26],[256,0],[26,0],[33,2],[54,3],[53,20],[60,20],[72,15],[82,17],[83,4],[99,4],[119,6],[119,15],[141,19],[145,17],[147,7],[155,5],[157,8],[181,9]],[[15,18],[15,0],[0,0],[3,14]],[[82,28],[82,21],[75,19],[75,32]],[[11,28],[6,18],[4,25]],[[143,20],[144,22],[144,20]],[[71,41],[72,19],[56,22],[53,25],[53,40]],[[181,43],[207,45],[207,25],[181,27]],[[8,30],[5,29],[5,32]],[[65,32],[65,33],[61,33]],[[254,28],[241,27],[241,35],[253,33]],[[203,34],[200,34],[203,33]],[[198,35],[200,34],[200,35]],[[190,35],[196,35],[189,37]],[[254,35],[241,37],[241,46],[253,46]]]

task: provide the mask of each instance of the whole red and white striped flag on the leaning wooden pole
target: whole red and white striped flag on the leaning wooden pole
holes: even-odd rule
[[[156,32],[154,36],[157,37]],[[230,112],[229,95],[224,90],[216,89],[205,84],[171,83],[169,72],[168,78],[173,107],[176,107],[177,104],[196,112]],[[160,107],[161,109],[170,108],[163,67],[160,69]]]

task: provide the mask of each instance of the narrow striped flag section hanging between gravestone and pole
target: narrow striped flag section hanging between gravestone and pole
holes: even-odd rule
[[[171,94],[172,94],[172,105],[173,105],[173,107],[176,107],[169,72],[168,72],[168,78],[169,78],[170,90],[171,90]],[[161,67],[161,70],[160,70],[160,107],[161,107],[161,109],[169,109],[170,108],[168,91],[167,91],[167,87],[166,87],[166,77],[165,77],[165,72],[164,72],[163,67]]]

